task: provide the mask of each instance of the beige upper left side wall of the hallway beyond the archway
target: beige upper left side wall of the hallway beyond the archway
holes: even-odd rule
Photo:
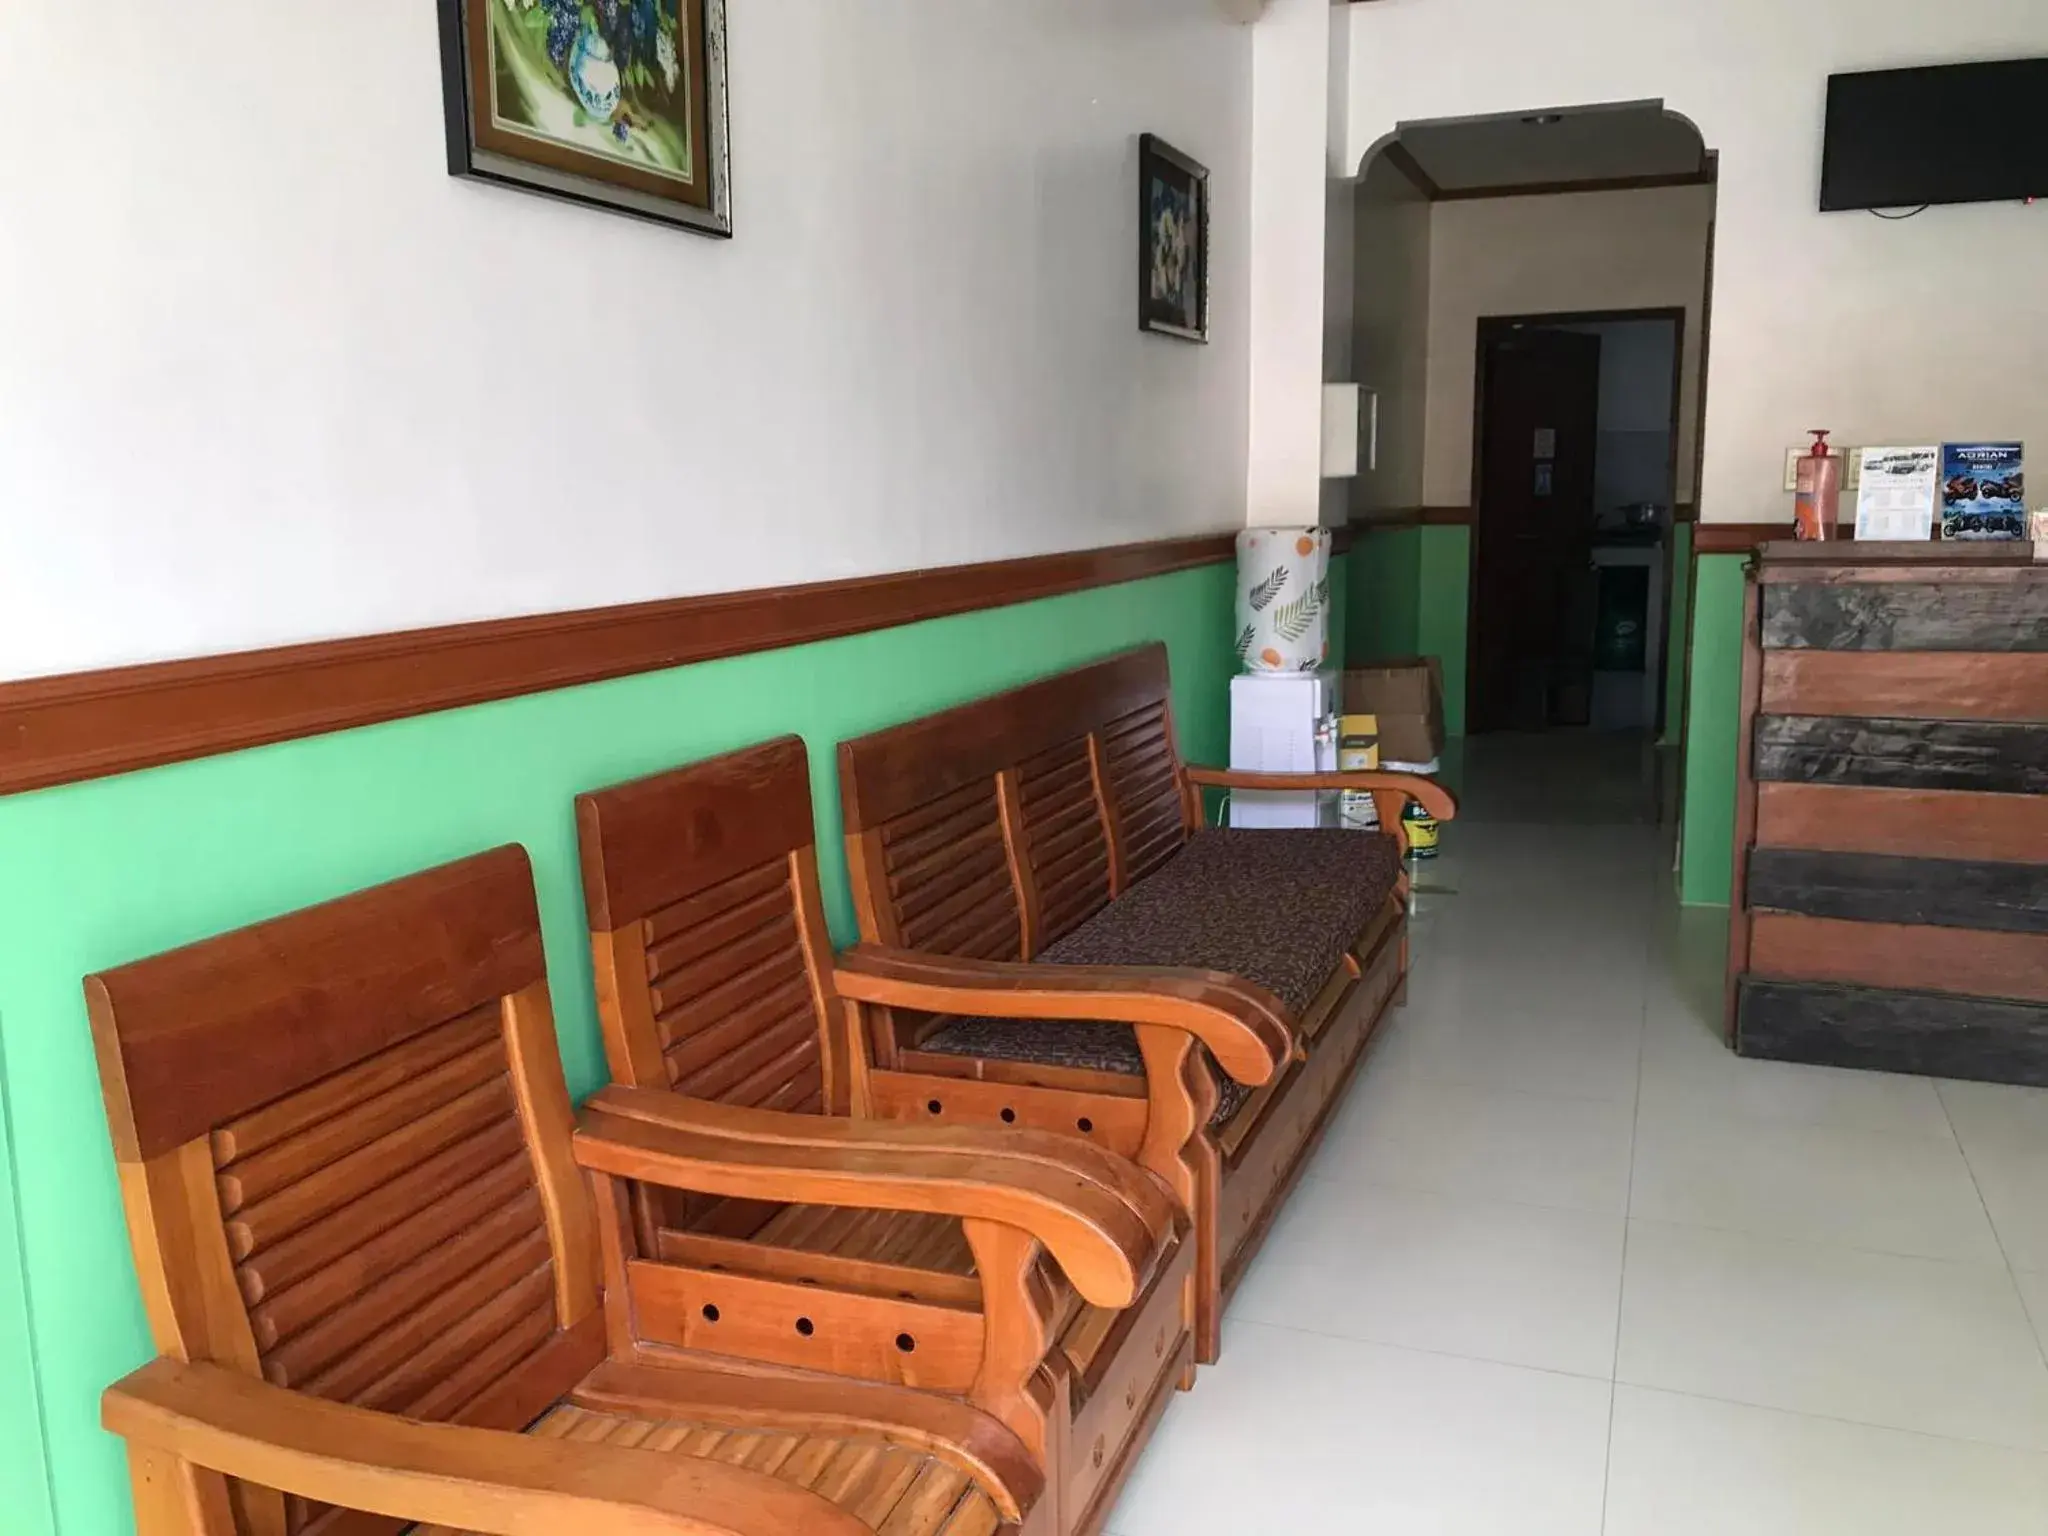
[[[1360,516],[1425,506],[1423,426],[1430,385],[1430,203],[1386,160],[1358,180],[1352,303],[1358,383],[1378,391],[1378,465],[1352,492]],[[1460,502],[1464,498],[1458,498]]]

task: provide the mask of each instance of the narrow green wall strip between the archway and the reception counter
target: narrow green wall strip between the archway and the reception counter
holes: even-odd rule
[[[1702,555],[1692,616],[1679,897],[1726,905],[1735,852],[1735,741],[1743,684],[1743,555]]]

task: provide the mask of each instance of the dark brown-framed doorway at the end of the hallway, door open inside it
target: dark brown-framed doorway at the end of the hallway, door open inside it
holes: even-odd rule
[[[1655,731],[1683,309],[1479,322],[1470,731]]]

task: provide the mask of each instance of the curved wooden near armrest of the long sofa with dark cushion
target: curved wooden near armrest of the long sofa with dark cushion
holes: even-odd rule
[[[1221,971],[963,961],[854,944],[840,954],[834,985],[842,997],[928,1014],[1165,1024],[1206,1044],[1249,1087],[1270,1081],[1294,1053],[1286,1004]]]

